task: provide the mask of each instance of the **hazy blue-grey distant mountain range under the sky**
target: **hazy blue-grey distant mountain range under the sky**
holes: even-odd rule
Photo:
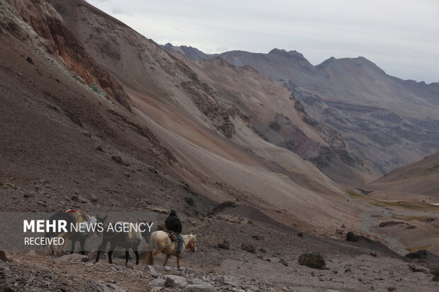
[[[215,56],[252,66],[290,89],[309,115],[340,132],[349,149],[382,174],[439,150],[439,83],[388,76],[363,57],[313,66],[299,52],[283,49]]]

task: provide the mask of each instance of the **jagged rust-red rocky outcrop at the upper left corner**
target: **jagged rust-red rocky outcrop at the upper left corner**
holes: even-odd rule
[[[4,26],[9,33],[40,47],[48,58],[58,60],[72,71],[72,77],[79,76],[86,86],[96,88],[97,84],[108,95],[101,98],[113,98],[131,110],[130,99],[122,86],[85,52],[84,46],[47,1],[25,0],[15,1],[13,5],[4,2],[3,5],[8,8],[1,10],[1,23],[14,23]],[[17,18],[23,21],[17,21]]]

